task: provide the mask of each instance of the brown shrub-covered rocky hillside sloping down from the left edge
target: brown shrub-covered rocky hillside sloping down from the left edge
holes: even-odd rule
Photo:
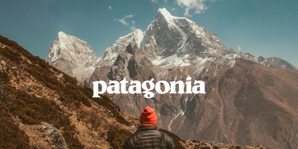
[[[2,36],[0,113],[1,149],[119,149],[138,123]]]

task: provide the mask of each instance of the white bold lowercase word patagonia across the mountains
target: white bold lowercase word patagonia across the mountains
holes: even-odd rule
[[[205,83],[202,80],[195,80],[194,86],[191,86],[191,77],[188,76],[186,78],[186,82],[184,83],[182,80],[178,81],[171,81],[168,83],[167,81],[160,80],[157,81],[156,84],[153,82],[154,78],[151,80],[144,81],[141,83],[138,80],[131,80],[130,86],[128,87],[128,91],[126,90],[126,85],[128,81],[126,78],[124,78],[121,81],[117,80],[110,80],[109,86],[107,86],[106,82],[103,80],[100,81],[94,81],[93,83],[93,96],[92,97],[100,97],[99,94],[103,94],[104,92],[108,92],[109,94],[135,94],[135,93],[144,93],[145,98],[152,98],[154,96],[154,93],[151,91],[155,89],[155,91],[159,94],[165,94],[170,91],[171,94],[175,93],[187,93],[187,94],[198,94],[198,93],[206,93],[205,92]],[[98,90],[98,84],[101,85],[101,91]],[[161,84],[163,84],[164,90],[161,89]],[[196,85],[198,84],[198,85]],[[178,92],[176,92],[176,85],[178,85]],[[186,85],[186,91],[184,91],[184,86]],[[121,90],[120,90],[121,86]],[[148,87],[149,86],[149,87]],[[198,90],[199,88],[199,90]],[[143,91],[142,91],[143,89]]]

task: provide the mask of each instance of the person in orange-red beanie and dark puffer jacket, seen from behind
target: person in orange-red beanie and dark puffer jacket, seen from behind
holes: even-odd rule
[[[172,138],[158,130],[155,111],[149,106],[142,111],[140,123],[138,130],[127,138],[122,149],[175,149]]]

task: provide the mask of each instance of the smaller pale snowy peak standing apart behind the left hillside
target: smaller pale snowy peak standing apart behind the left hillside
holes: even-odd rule
[[[90,77],[99,67],[99,60],[86,42],[64,32],[58,33],[46,58],[50,65],[75,76],[79,82]]]

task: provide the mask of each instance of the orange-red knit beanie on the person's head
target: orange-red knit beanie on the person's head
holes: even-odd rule
[[[140,123],[157,123],[157,116],[155,114],[155,111],[150,108],[149,106],[145,107],[144,110],[142,111],[142,114],[140,116]]]

